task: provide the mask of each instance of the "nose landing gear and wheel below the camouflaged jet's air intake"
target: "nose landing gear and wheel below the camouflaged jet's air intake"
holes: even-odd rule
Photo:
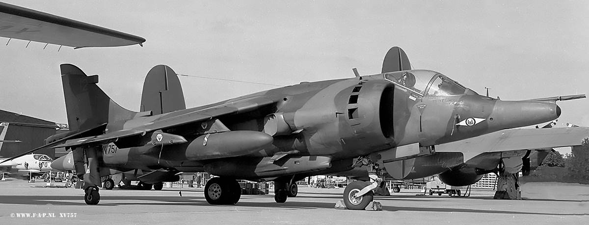
[[[360,157],[354,166],[366,166],[370,181],[353,181],[343,191],[343,203],[351,210],[364,210],[374,197],[378,184],[383,181],[377,174],[379,166],[373,163],[368,157]]]

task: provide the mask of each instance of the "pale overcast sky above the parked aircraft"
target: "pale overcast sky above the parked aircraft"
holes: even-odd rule
[[[147,72],[292,85],[378,74],[399,46],[416,69],[502,100],[589,93],[589,1],[6,1],[147,39],[82,48],[0,38],[0,108],[67,123],[59,64],[139,110]],[[187,107],[274,88],[180,77]],[[589,125],[589,100],[560,102]]]

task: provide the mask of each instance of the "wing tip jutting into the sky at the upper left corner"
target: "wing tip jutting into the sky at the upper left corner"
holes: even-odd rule
[[[0,37],[74,48],[143,46],[145,42],[135,35],[4,2],[0,2]]]

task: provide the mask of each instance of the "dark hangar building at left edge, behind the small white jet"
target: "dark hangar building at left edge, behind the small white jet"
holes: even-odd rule
[[[45,144],[45,138],[54,135],[57,125],[47,120],[28,117],[14,112],[0,110],[0,155],[13,157]],[[12,142],[20,141],[20,142]],[[53,148],[37,151],[55,158]]]

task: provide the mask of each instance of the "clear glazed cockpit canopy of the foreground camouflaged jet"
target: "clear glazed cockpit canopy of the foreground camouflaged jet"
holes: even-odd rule
[[[422,96],[460,95],[471,92],[444,74],[429,70],[407,70],[383,74],[385,80]]]

